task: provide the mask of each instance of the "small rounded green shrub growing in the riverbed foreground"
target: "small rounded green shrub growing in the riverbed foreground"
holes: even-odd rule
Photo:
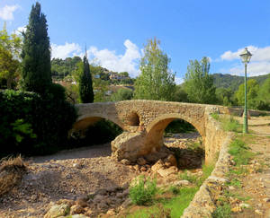
[[[140,176],[138,179],[134,179],[130,184],[130,198],[133,204],[146,205],[152,202],[156,194],[156,179],[145,179],[143,176]]]

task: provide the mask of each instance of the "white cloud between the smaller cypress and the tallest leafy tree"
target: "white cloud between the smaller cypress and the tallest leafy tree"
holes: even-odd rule
[[[126,48],[124,55],[117,55],[115,51],[106,48],[98,50],[96,47],[90,47],[87,54],[92,62],[102,65],[108,70],[128,72],[131,77],[138,76],[138,61],[141,57],[139,48],[130,39],[124,41],[124,46]]]

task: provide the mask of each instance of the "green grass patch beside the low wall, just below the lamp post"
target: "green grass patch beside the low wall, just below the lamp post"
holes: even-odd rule
[[[248,150],[249,148],[247,145],[238,138],[229,144],[229,154],[233,156],[233,161],[236,162],[236,166],[247,165],[248,161],[255,156],[255,153]]]

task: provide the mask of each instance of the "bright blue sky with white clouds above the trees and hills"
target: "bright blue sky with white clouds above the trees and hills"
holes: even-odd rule
[[[32,0],[1,0],[0,26],[9,32],[27,25]],[[139,74],[147,39],[157,37],[171,58],[177,82],[189,60],[211,58],[211,73],[242,74],[238,54],[254,55],[249,75],[270,73],[268,0],[41,0],[49,24],[52,57],[84,52],[113,71]]]

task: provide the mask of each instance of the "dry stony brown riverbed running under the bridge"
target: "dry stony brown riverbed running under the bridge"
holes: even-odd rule
[[[199,136],[171,135],[165,140],[168,147],[184,156],[180,162],[182,168],[192,169],[194,173],[202,172],[202,153],[187,148],[194,142],[200,144]],[[102,144],[27,160],[28,170],[21,184],[0,197],[0,217],[43,217],[57,204],[71,206],[73,214],[110,217],[130,205],[128,187],[137,176],[156,175],[158,186],[179,179],[181,169],[173,168],[170,163],[169,170],[157,172],[151,170],[153,163],[127,165],[113,160],[111,152],[110,144]]]

